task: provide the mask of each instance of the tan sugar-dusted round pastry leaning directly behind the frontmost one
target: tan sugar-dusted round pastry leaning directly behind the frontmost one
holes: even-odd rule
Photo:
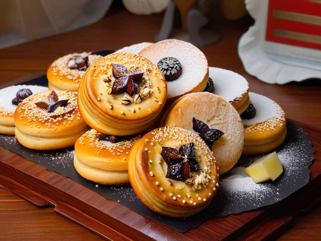
[[[196,133],[198,131],[194,128],[193,117],[204,122],[209,129],[224,133],[214,141],[212,151],[219,167],[218,173],[221,175],[227,172],[239,160],[244,144],[244,128],[238,112],[218,95],[209,92],[191,93],[169,106],[160,126],[176,126]]]

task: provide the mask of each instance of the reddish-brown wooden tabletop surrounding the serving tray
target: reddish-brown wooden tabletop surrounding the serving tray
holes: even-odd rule
[[[125,10],[110,9],[105,18],[90,26],[0,49],[0,88],[45,75],[53,60],[68,53],[116,50],[143,41],[153,42],[153,37],[160,30],[162,18],[162,13],[141,16]],[[237,45],[240,36],[251,24],[253,20],[249,16],[237,21],[217,22],[213,28],[222,33],[221,41],[201,48],[209,66],[230,69],[244,76],[251,92],[268,96],[280,104],[287,118],[308,125],[320,133],[321,80],[269,85],[245,72],[237,54]],[[317,143],[321,143],[320,138]],[[0,160],[7,152],[0,147]],[[318,172],[313,178],[321,174],[320,169]],[[317,198],[320,201],[320,195]],[[273,237],[278,240],[321,239],[320,205],[307,210],[308,213],[296,216],[292,226],[278,229]],[[251,237],[251,233],[242,237]],[[93,232],[57,214],[53,207],[38,208],[3,187],[0,187],[0,239],[102,240]]]

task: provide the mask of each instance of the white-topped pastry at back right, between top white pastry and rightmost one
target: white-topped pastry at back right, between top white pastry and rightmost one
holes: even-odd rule
[[[227,69],[209,67],[209,77],[213,81],[213,94],[230,102],[239,114],[244,112],[250,103],[247,80]]]

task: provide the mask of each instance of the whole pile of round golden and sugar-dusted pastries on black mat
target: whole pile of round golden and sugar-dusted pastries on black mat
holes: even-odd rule
[[[130,183],[165,216],[203,210],[219,175],[241,154],[269,152],[286,136],[278,104],[249,92],[237,73],[209,67],[200,49],[180,40],[135,44],[105,57],[68,54],[47,77],[48,90],[23,91],[16,95],[25,97],[21,102],[12,101],[10,133],[3,128],[7,112],[0,112],[1,133],[14,129],[23,146],[38,150],[74,146],[82,177]]]

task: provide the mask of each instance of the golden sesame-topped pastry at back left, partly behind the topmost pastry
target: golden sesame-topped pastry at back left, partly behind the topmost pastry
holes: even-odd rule
[[[47,70],[48,88],[77,92],[85,70],[100,58],[101,55],[82,52],[56,59]]]

